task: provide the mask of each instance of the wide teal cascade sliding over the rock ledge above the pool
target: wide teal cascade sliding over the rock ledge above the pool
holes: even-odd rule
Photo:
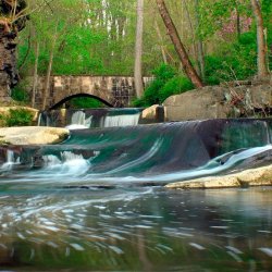
[[[46,162],[53,161],[55,172],[50,168],[49,176],[66,176],[65,183],[70,180],[85,184],[108,181],[168,183],[220,173],[271,150],[268,124],[259,120],[219,120],[73,131],[61,145],[24,147],[16,156],[27,169],[26,180],[47,178],[48,174],[41,173],[48,165]],[[81,180],[76,182],[67,171],[74,157],[66,158],[65,152],[74,153],[76,160],[82,161],[83,170],[77,164],[75,172]],[[32,173],[33,160],[41,173]]]

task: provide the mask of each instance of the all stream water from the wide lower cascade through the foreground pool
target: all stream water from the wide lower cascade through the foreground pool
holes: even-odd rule
[[[0,271],[271,271],[271,188],[162,187],[271,162],[271,127],[177,122],[1,147]]]

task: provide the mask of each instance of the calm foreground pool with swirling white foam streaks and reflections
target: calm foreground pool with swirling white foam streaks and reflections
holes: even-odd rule
[[[271,271],[272,189],[0,194],[9,271]]]

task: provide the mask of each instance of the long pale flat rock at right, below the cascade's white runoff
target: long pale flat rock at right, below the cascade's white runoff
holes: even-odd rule
[[[272,185],[272,165],[248,169],[230,175],[207,176],[186,182],[171,183],[165,187],[171,189],[210,189],[270,185]]]

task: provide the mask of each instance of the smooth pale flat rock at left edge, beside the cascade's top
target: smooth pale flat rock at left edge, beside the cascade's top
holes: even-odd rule
[[[60,143],[69,135],[69,129],[60,127],[2,127],[0,128],[0,143],[10,145],[48,145]]]

